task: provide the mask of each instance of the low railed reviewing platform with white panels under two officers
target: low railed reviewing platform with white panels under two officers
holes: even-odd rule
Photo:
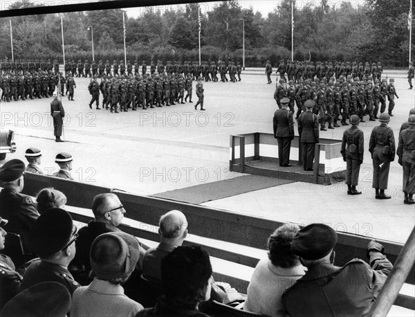
[[[302,145],[298,136],[291,141],[290,161],[301,166],[278,169],[278,143],[273,134],[255,132],[232,135],[229,168],[235,172],[330,185],[335,181],[344,181],[346,176],[341,147],[340,140],[320,138],[320,143],[315,145],[314,171],[311,173],[302,169]],[[265,162],[275,165],[270,167]]]

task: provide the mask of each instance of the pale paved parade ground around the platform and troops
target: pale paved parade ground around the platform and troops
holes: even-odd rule
[[[399,127],[414,107],[415,95],[408,89],[404,71],[394,71],[393,76],[400,98],[389,126],[394,129],[397,143]],[[57,170],[55,155],[69,152],[74,158],[71,174],[77,181],[157,194],[204,183],[231,182],[242,174],[229,171],[230,135],[273,132],[275,75],[272,84],[266,84],[266,75],[256,71],[242,73],[241,82],[203,82],[206,111],[194,110],[194,93],[192,104],[111,114],[104,109],[89,109],[89,79],[75,78],[75,82],[75,101],[62,97],[65,143],[55,143],[50,117],[52,98],[1,103],[1,126],[15,131],[17,143],[17,152],[8,154],[6,161],[17,158],[26,162],[25,150],[39,147],[43,152],[42,170],[51,174]],[[405,242],[414,227],[415,207],[403,204],[402,168],[397,157],[391,163],[386,191],[392,199],[376,200],[371,188],[372,165],[367,149],[376,125],[378,121],[360,124],[365,132],[365,161],[358,185],[362,195],[348,196],[344,183],[324,186],[293,182],[203,205],[300,224],[325,222],[340,231]],[[320,137],[341,140],[344,129],[320,132]]]

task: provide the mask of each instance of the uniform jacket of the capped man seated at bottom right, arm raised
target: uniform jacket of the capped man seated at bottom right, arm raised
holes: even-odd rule
[[[371,266],[354,259],[343,267],[317,264],[282,296],[291,317],[368,316],[392,264],[385,255],[371,253]]]

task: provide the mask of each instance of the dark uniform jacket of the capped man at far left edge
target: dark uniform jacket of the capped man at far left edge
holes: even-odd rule
[[[32,198],[17,190],[4,188],[0,192],[0,217],[8,219],[7,230],[20,235],[24,251],[29,251],[29,230],[39,217]]]

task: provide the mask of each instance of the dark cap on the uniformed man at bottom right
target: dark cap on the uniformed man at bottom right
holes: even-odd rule
[[[295,235],[291,252],[304,260],[318,260],[328,255],[337,241],[333,228],[325,224],[310,224]]]

